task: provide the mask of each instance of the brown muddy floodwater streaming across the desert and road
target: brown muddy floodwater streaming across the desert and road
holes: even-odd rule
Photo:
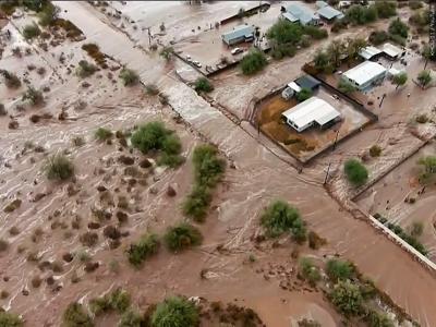
[[[332,161],[339,171],[344,157],[366,149],[370,142],[388,143],[396,131],[403,133],[397,137],[413,137],[399,140],[400,145],[409,140],[421,141],[411,136],[409,125],[403,123],[399,129],[392,118],[393,106],[404,101],[403,93],[390,92],[386,99],[386,108],[390,109],[380,110],[386,125],[384,121],[379,130],[374,126],[359,134],[353,138],[355,149],[348,141],[330,157],[322,157],[299,172],[286,152],[269,144],[247,121],[232,118],[243,120],[251,113],[249,105],[255,98],[299,77],[300,66],[316,47],[272,62],[263,74],[251,78],[237,69],[215,76],[216,88],[209,101],[177,74],[175,71],[189,72],[189,65],[175,58],[166,62],[158,51],[148,48],[145,27],[152,26],[154,40],[172,40],[177,47],[177,41],[183,44],[186,37],[202,38],[204,29],[216,20],[252,2],[189,5],[185,1],[109,1],[105,10],[85,1],[55,4],[61,9],[60,16],[76,25],[83,37],[62,38],[46,46],[37,40],[25,41],[22,27],[36,16],[24,12],[10,19],[12,39],[5,44],[0,60],[0,68],[14,71],[23,81],[16,89],[0,85],[8,111],[0,117],[0,238],[8,244],[0,252],[2,307],[22,315],[25,326],[60,326],[62,313],[72,301],[87,306],[90,299],[122,287],[140,310],[168,295],[183,294],[251,307],[266,326],[296,326],[303,317],[316,319],[323,326],[340,326],[342,317],[323,292],[308,288],[298,277],[298,258],[292,257],[292,253],[298,253],[319,263],[334,256],[350,259],[414,320],[422,326],[436,326],[435,275],[366,221],[354,218],[323,185],[327,162]],[[113,16],[117,10],[121,17]],[[161,23],[165,33],[159,32]],[[371,28],[386,24],[382,21]],[[363,28],[355,27],[344,36],[361,33]],[[107,68],[99,66],[92,76],[80,78],[78,62],[92,61],[82,49],[89,43],[97,44],[99,51],[107,55]],[[13,53],[17,45],[22,47],[22,57]],[[32,49],[27,56],[25,48]],[[123,65],[137,72],[140,84],[123,85],[119,78]],[[45,68],[44,74],[40,70],[38,73],[40,66]],[[143,85],[150,83],[159,89],[160,97],[144,90]],[[22,99],[28,85],[44,89],[43,104],[34,106]],[[414,89],[408,87],[407,90]],[[420,95],[410,99],[415,111],[422,108]],[[422,93],[427,109],[431,95],[432,92]],[[408,108],[400,108],[401,118],[414,114]],[[358,118],[353,122],[361,123]],[[129,137],[120,136],[156,120],[165,122],[181,140],[185,161],[179,168],[158,166],[156,155],[133,149]],[[95,137],[98,128],[118,131],[118,137],[100,142]],[[432,129],[421,132],[428,131]],[[204,235],[203,244],[178,254],[162,246],[144,267],[133,268],[126,257],[132,242],[145,232],[162,234],[169,226],[186,219],[181,207],[193,186],[192,153],[202,143],[216,145],[227,162],[207,219],[196,225]],[[47,158],[60,153],[75,166],[75,178],[62,183],[47,180],[44,170]],[[146,165],[141,164],[144,159]],[[402,173],[411,174],[409,168]],[[382,189],[377,192],[383,196],[377,194],[375,198],[379,201],[370,204],[367,210],[386,208],[389,196],[393,210],[393,202],[400,205],[402,196],[397,189],[411,187],[409,182],[405,178],[398,185],[387,181],[386,190],[390,187],[392,192],[384,191],[383,181],[375,184],[374,190]],[[175,195],[169,195],[169,187]],[[400,193],[393,198],[396,192]],[[428,189],[414,206],[408,205],[420,210],[416,217],[426,213],[423,241],[431,240],[427,233],[433,219],[432,194]],[[366,205],[366,197],[371,194],[363,197],[362,205]],[[325,238],[326,244],[316,251],[286,238],[277,243],[257,244],[254,240],[261,232],[259,217],[277,198],[295,206],[307,229]],[[426,209],[419,209],[424,203]],[[5,209],[11,204],[13,210]],[[96,222],[96,215],[105,215],[107,220],[98,226],[92,223]],[[404,226],[412,221],[409,215],[397,218]],[[105,234],[108,226],[119,231],[117,242]],[[97,234],[93,246],[81,240],[86,232]],[[89,262],[93,271],[85,269]],[[40,284],[36,287],[34,280],[38,278]],[[118,322],[119,317],[108,315],[97,318],[96,326],[117,326]]]

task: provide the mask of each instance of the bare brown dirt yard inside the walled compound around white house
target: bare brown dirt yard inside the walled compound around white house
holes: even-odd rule
[[[353,108],[346,99],[336,99],[323,86],[314,93],[314,96],[336,108],[341,113],[342,120],[326,130],[311,128],[299,133],[284,124],[281,119],[281,113],[295,106],[296,101],[283,100],[280,93],[262,101],[256,109],[262,131],[302,161],[310,160],[317,153],[331,146],[335,140],[340,141],[370,121],[368,117]]]

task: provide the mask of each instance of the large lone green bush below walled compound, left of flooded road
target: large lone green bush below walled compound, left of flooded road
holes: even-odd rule
[[[286,202],[276,201],[270,204],[261,216],[261,225],[270,238],[290,232],[296,241],[305,240],[306,229],[299,210]]]

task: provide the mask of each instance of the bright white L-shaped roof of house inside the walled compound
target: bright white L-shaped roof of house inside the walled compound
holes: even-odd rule
[[[340,117],[340,112],[318,97],[312,97],[282,113],[289,121],[302,129],[312,122],[324,125]]]

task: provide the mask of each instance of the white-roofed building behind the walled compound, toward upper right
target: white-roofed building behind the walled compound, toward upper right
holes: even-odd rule
[[[342,78],[360,90],[367,89],[371,85],[380,82],[386,75],[386,69],[373,61],[365,61],[342,74]]]

